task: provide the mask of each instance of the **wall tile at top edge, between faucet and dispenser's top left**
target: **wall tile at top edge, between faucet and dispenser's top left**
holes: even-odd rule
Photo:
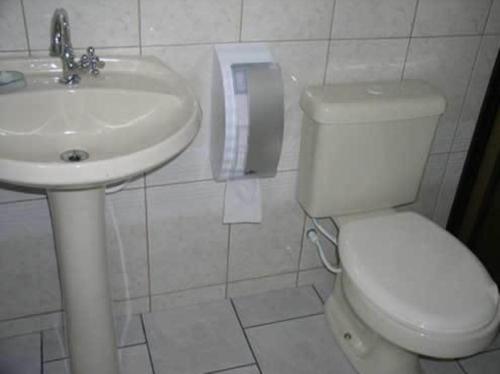
[[[241,0],[142,0],[143,45],[237,41]]]

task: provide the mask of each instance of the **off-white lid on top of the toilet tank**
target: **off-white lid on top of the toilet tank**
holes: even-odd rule
[[[300,105],[315,122],[348,124],[436,116],[446,100],[430,84],[412,79],[310,86]]]

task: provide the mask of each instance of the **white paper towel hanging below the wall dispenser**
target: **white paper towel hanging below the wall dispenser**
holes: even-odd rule
[[[262,196],[259,179],[227,181],[224,197],[224,223],[260,222],[262,222]]]

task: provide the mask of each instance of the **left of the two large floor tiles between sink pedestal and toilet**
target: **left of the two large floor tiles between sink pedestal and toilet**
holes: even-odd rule
[[[227,300],[144,315],[156,373],[202,374],[253,363]]]

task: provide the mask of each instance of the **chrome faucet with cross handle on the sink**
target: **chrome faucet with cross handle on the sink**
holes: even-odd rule
[[[50,55],[60,57],[62,60],[63,76],[59,81],[66,85],[80,82],[79,72],[90,72],[93,76],[99,75],[99,69],[104,67],[104,62],[95,54],[93,47],[87,48],[87,54],[79,61],[75,60],[69,17],[66,10],[60,8],[54,11],[50,27]]]

